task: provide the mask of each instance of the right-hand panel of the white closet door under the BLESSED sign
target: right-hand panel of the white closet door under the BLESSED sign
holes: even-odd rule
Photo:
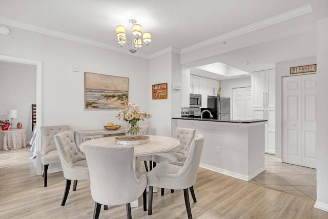
[[[317,168],[317,75],[302,75],[302,166]]]

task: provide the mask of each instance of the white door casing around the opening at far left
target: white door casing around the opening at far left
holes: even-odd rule
[[[10,62],[10,63],[19,63],[36,66],[36,174],[42,174],[42,164],[41,164],[41,136],[39,133],[40,125],[42,124],[42,62],[33,59],[19,58],[7,55],[0,55],[0,61]]]

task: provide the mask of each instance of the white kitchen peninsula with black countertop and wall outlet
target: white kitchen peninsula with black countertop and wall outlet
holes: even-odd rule
[[[265,170],[264,126],[267,120],[213,120],[172,118],[172,136],[177,127],[196,129],[204,135],[200,167],[250,181]]]

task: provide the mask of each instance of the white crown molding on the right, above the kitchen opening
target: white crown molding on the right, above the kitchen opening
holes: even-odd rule
[[[292,19],[294,17],[298,17],[298,16],[301,16],[301,15],[304,15],[307,13],[311,13],[312,11],[313,10],[311,8],[311,5],[307,4],[307,5],[301,6],[299,8],[293,9],[291,11],[287,11],[282,14],[278,14],[276,16],[270,17],[268,19],[264,19],[263,21],[239,28],[237,30],[234,30],[234,31],[231,31],[228,33],[224,33],[224,34],[216,36],[216,37],[213,37],[211,39],[208,39],[207,41],[203,41],[203,42],[194,44],[192,46],[183,48],[183,49],[181,49],[181,54],[191,52],[193,50],[200,49],[200,48],[203,48],[206,46],[210,46],[212,44],[225,41],[229,38],[236,37],[236,36],[239,36],[239,35],[254,31],[254,30],[264,28],[264,27],[268,27],[270,25],[274,25],[274,24],[286,21],[288,19]]]

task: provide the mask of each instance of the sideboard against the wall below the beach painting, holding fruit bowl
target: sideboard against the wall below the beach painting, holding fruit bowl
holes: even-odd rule
[[[109,136],[118,136],[118,135],[125,135],[125,128],[121,127],[117,130],[87,130],[87,131],[76,131],[74,132],[74,140],[76,143],[76,146],[79,147],[79,145],[85,141],[89,141],[96,138],[101,137],[109,137]]]

